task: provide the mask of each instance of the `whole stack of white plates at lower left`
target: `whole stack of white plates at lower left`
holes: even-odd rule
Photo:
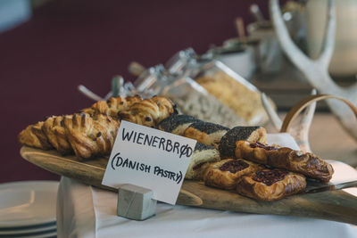
[[[56,237],[56,181],[0,185],[0,237]]]

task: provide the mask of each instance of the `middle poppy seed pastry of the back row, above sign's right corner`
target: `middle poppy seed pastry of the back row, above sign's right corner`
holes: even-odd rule
[[[228,132],[228,127],[223,127],[210,122],[195,122],[184,132],[184,136],[194,139],[199,143],[212,145],[216,149],[220,144],[220,139]]]

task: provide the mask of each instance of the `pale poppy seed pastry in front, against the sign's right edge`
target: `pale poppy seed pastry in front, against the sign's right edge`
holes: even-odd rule
[[[220,152],[213,146],[195,144],[195,151],[187,168],[187,179],[202,180],[205,169],[210,163],[220,160]]]

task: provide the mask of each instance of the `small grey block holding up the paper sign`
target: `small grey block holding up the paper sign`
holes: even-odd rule
[[[152,190],[127,184],[120,186],[118,192],[118,216],[142,221],[155,215],[157,201]]]

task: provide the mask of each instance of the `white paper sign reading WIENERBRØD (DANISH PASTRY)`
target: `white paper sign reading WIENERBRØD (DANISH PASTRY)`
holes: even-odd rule
[[[102,184],[153,190],[154,199],[175,204],[196,141],[121,120]]]

